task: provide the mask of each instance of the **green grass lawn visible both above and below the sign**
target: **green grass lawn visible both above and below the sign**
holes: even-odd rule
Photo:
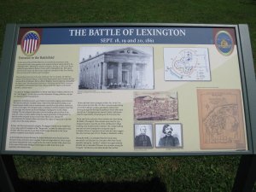
[[[247,23],[254,58],[256,55],[256,2],[253,0],[1,0],[0,18],[0,51],[3,49],[3,33],[7,23]],[[156,183],[162,184],[168,192],[226,192],[232,189],[239,160],[240,156],[17,155],[15,165],[20,179],[27,181],[150,183],[156,179]],[[152,186],[148,191],[154,191]]]

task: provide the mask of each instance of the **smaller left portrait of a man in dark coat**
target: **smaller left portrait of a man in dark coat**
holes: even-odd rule
[[[134,125],[134,147],[153,148],[153,125]]]

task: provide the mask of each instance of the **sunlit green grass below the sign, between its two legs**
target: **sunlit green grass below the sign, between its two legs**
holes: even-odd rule
[[[166,191],[230,191],[238,156],[198,157],[32,157],[15,156],[19,177],[49,183],[150,182]],[[127,190],[129,191],[129,190]]]

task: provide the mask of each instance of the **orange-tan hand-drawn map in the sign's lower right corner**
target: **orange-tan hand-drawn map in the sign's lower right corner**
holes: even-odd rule
[[[240,90],[197,90],[202,149],[246,149]]]

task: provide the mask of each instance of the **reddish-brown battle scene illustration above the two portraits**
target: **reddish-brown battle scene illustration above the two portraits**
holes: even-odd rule
[[[177,92],[135,92],[134,119],[177,120]]]

